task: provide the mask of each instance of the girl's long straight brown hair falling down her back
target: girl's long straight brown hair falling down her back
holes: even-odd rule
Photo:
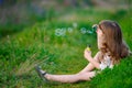
[[[119,62],[129,55],[129,47],[122,40],[121,28],[117,22],[103,20],[99,23],[99,29],[105,34],[105,42],[100,48],[102,53],[109,52],[113,62]]]

